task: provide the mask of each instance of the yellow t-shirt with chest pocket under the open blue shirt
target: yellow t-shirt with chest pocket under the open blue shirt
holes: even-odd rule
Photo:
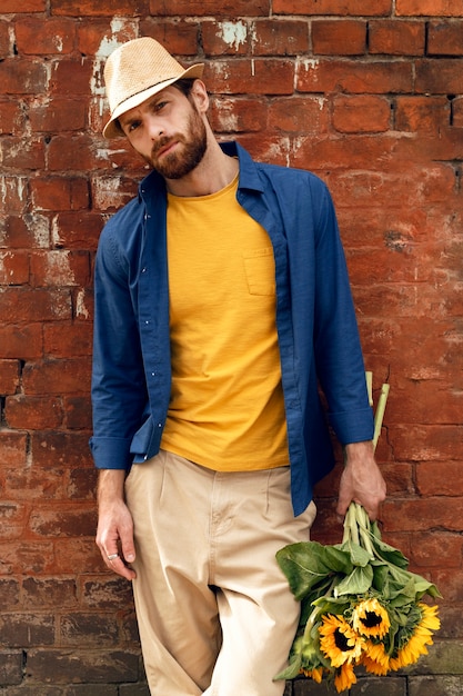
[[[161,446],[222,471],[289,464],[272,245],[235,199],[169,195],[172,394]]]

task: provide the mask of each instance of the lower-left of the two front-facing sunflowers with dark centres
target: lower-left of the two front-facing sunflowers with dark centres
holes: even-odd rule
[[[342,616],[332,614],[323,616],[319,633],[320,648],[333,667],[359,660],[364,638],[359,636]]]

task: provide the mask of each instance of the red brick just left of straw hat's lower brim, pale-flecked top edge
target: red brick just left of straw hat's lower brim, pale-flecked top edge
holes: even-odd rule
[[[82,99],[54,98],[36,101],[29,109],[33,132],[69,132],[83,130],[87,126],[87,103]]]

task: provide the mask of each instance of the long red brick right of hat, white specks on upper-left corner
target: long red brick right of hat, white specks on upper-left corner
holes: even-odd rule
[[[338,60],[301,61],[296,89],[303,92],[344,91],[363,95],[407,92],[413,89],[412,66],[406,62]]]

